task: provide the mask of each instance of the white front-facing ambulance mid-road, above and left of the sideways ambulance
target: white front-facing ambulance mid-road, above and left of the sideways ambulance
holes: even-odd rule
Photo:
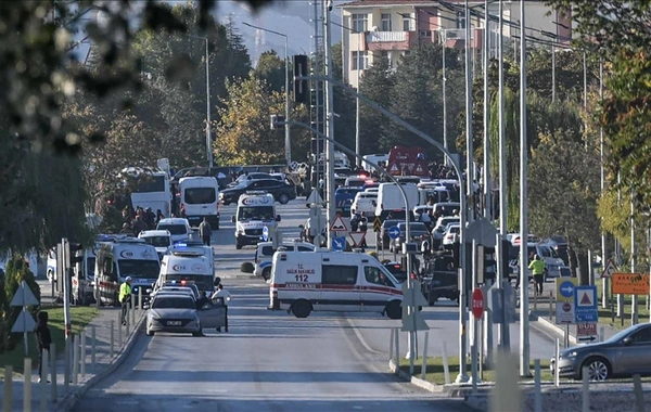
[[[261,191],[248,191],[238,199],[238,210],[231,218],[235,223],[235,248],[257,245],[261,241],[265,227],[269,239],[278,228],[280,215],[276,215],[273,195]]]

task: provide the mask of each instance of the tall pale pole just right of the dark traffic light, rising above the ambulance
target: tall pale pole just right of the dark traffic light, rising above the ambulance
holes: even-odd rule
[[[326,57],[326,77],[332,77],[332,49],[331,49],[331,30],[330,30],[330,11],[332,1],[323,1],[323,34],[326,37],[326,47],[323,48]],[[335,218],[334,209],[334,144],[331,140],[334,139],[334,111],[332,107],[333,90],[332,82],[326,82],[326,136],[330,139],[326,142],[326,188],[328,190],[326,202],[328,205],[328,228],[332,226]],[[332,232],[328,231],[328,248],[332,248]]]

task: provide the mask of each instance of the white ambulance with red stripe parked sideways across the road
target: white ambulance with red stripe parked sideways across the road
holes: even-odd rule
[[[296,318],[312,310],[403,316],[399,282],[378,259],[361,253],[277,252],[269,299],[270,309]]]

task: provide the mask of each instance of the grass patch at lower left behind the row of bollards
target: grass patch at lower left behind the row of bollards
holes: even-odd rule
[[[63,356],[65,346],[65,323],[63,319],[63,307],[44,309],[49,314],[50,333],[52,343],[56,346],[56,353]],[[98,314],[95,307],[71,307],[71,318],[73,319],[73,333],[79,333]],[[31,358],[31,364],[38,368],[38,350],[36,347],[36,337],[34,333],[27,334],[27,344],[29,348],[28,357]],[[12,365],[14,373],[23,374],[25,359],[25,344],[21,342],[13,350],[0,353],[0,379],[4,379],[4,368]]]

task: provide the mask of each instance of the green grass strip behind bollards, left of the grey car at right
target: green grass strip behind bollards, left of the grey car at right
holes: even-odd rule
[[[418,358],[413,364],[413,375],[421,377],[422,358]],[[459,357],[448,358],[448,366],[450,371],[450,381],[454,383],[459,374]],[[409,359],[400,359],[400,370],[409,373]],[[532,375],[534,374],[534,363],[531,364]],[[470,375],[470,362],[468,364],[468,373]],[[484,368],[484,376],[480,377],[483,382],[495,382],[495,370]],[[427,357],[427,373],[425,379],[435,385],[445,384],[445,373],[443,369],[443,358]],[[522,377],[522,381],[531,381],[531,377]],[[549,372],[549,359],[540,359],[540,379],[553,381],[553,376]]]

